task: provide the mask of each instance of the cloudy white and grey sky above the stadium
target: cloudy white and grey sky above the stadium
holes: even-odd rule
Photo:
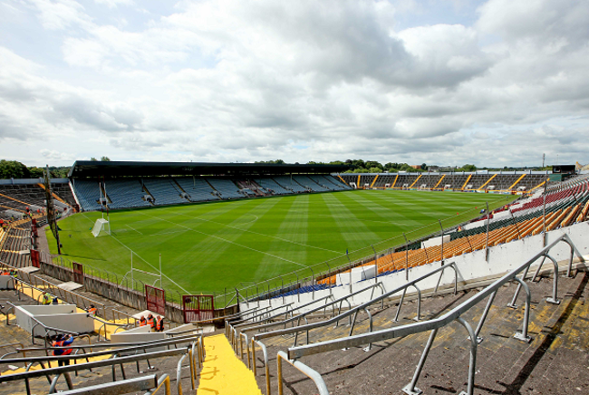
[[[0,159],[589,163],[586,0],[0,0]]]

